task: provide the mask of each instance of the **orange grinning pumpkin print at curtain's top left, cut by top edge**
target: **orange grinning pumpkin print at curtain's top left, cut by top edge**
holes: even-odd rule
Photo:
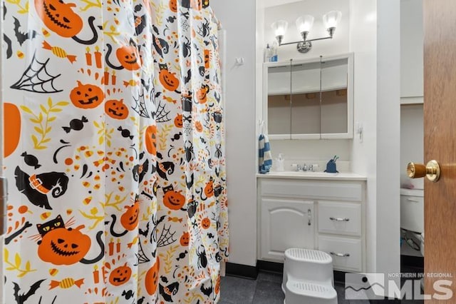
[[[35,0],[38,16],[51,31],[62,37],[73,37],[83,29],[83,19],[73,11],[76,4],[62,0]]]

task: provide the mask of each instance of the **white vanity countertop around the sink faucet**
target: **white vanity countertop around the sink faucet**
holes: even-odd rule
[[[325,181],[366,181],[366,176],[356,173],[326,173],[326,172],[304,172],[304,171],[283,171],[269,172],[266,174],[257,173],[257,178],[293,178],[308,180],[325,180]]]

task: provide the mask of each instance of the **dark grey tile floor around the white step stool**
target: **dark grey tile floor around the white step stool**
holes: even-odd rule
[[[283,304],[284,293],[281,290],[282,275],[260,271],[257,280],[237,278],[227,275],[222,278],[221,300],[219,304]],[[369,304],[368,300],[346,300],[345,288],[336,283],[338,304]],[[371,303],[422,304],[418,300],[376,300]]]

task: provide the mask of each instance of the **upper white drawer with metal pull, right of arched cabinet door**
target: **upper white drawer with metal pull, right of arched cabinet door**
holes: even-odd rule
[[[361,235],[361,204],[318,201],[318,232]]]

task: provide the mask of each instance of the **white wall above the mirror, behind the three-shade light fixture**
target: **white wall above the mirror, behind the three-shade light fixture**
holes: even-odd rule
[[[289,23],[283,43],[299,41],[301,40],[301,34],[296,29],[295,21],[299,16],[312,15],[315,18],[314,27],[309,32],[308,39],[321,38],[328,36],[322,21],[323,14],[328,11],[341,11],[342,19],[337,26],[333,39],[315,41],[312,43],[311,51],[306,54],[296,51],[296,44],[281,46],[279,47],[278,56],[279,61],[286,61],[289,59],[314,58],[320,55],[330,56],[347,53],[348,21],[350,19],[348,4],[349,0],[306,0],[266,8],[264,14],[264,47],[266,47],[266,43],[271,45],[276,40],[274,31],[271,29],[271,24],[274,21],[285,20]]]

